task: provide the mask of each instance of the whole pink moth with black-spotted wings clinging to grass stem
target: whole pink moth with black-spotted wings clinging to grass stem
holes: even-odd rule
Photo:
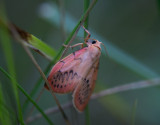
[[[91,39],[88,30],[84,30],[88,33],[85,38],[87,47],[82,46],[80,50],[58,61],[48,76],[49,85],[55,93],[73,93],[73,105],[79,112],[85,109],[95,87],[102,44]],[[45,87],[48,89],[46,84]]]

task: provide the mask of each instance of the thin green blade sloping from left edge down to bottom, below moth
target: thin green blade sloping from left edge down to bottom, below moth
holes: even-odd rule
[[[4,75],[7,76],[10,80],[14,79],[11,75],[9,75],[2,67],[0,67],[0,71],[4,73]],[[48,116],[43,112],[43,110],[37,105],[37,103],[30,97],[30,95],[25,92],[25,90],[18,84],[16,83],[16,86],[18,89],[28,98],[28,100],[37,108],[37,110],[43,115],[43,117],[46,119],[46,121],[50,124],[53,125],[52,121],[48,118]]]

